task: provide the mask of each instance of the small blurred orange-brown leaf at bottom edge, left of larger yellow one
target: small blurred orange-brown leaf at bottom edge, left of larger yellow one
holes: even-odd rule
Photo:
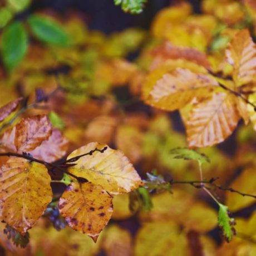
[[[132,256],[131,234],[117,225],[111,225],[104,233],[102,248],[107,256]]]

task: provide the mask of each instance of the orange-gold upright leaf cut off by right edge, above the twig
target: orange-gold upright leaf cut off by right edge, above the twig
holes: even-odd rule
[[[255,81],[256,47],[248,29],[238,31],[229,43],[226,51],[227,61],[233,70],[233,79],[237,86]]]

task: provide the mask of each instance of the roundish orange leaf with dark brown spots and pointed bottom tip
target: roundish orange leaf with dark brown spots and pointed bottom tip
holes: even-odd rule
[[[62,194],[58,208],[72,229],[96,242],[111,218],[112,196],[100,185],[71,183]]]

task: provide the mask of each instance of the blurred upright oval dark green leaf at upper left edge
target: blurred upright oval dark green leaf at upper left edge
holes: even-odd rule
[[[3,63],[8,71],[19,65],[27,52],[27,32],[21,22],[9,24],[2,35]]]

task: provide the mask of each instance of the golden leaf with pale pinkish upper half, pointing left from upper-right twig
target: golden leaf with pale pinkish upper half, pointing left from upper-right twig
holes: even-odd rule
[[[184,68],[165,73],[154,82],[146,103],[169,111],[184,107],[195,97],[209,95],[218,86],[213,77]]]

